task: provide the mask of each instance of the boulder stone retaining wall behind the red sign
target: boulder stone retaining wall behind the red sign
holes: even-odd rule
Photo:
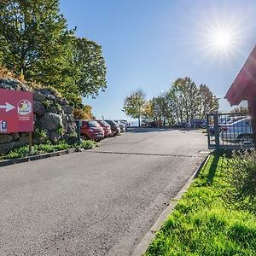
[[[33,143],[57,143],[76,137],[73,107],[50,88],[32,89],[17,79],[0,79],[0,88],[34,93],[35,130]],[[0,153],[28,144],[27,133],[0,134]]]

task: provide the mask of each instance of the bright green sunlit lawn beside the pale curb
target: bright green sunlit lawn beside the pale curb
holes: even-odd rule
[[[256,255],[256,216],[226,196],[232,161],[211,156],[145,255]]]

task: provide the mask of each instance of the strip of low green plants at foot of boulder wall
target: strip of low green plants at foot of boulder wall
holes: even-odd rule
[[[91,140],[83,140],[80,144],[68,144],[67,142],[60,142],[56,144],[38,144],[32,147],[32,152],[29,152],[29,148],[27,146],[23,146],[20,148],[15,148],[11,150],[7,154],[0,154],[0,160],[10,160],[10,159],[17,159],[31,155],[38,155],[38,154],[46,154],[57,152],[61,150],[67,150],[69,148],[77,148],[77,149],[91,149],[98,147],[98,143]]]

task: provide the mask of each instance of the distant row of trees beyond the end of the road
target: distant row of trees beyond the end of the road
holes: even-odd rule
[[[205,119],[207,113],[218,110],[218,98],[206,84],[197,86],[189,78],[177,79],[169,90],[146,100],[143,90],[132,91],[125,97],[123,111],[131,118],[144,122],[160,121],[163,125]]]

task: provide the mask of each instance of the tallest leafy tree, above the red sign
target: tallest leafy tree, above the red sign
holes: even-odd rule
[[[59,14],[56,0],[12,0],[0,3],[0,49],[4,66],[26,79],[49,84],[66,67],[67,41],[73,31]],[[66,61],[67,62],[67,61]],[[61,65],[62,64],[62,65]]]

